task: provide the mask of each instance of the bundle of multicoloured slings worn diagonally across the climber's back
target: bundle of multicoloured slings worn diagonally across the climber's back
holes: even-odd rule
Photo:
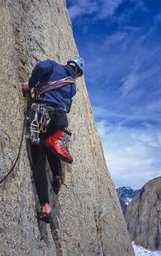
[[[61,88],[68,83],[75,83],[75,79],[72,77],[66,77],[57,81],[42,82],[38,83],[34,88],[31,89],[31,97],[35,100],[40,100],[40,95],[53,89]]]

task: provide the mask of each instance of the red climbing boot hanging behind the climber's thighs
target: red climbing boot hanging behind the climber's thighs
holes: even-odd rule
[[[48,148],[61,160],[64,160],[67,163],[72,163],[73,159],[67,146],[69,141],[70,135],[59,130],[46,139],[45,146],[48,146]]]

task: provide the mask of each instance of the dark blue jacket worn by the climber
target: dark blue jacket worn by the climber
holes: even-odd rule
[[[75,71],[72,70],[70,65],[60,65],[53,60],[41,61],[35,65],[34,70],[31,73],[29,87],[33,88],[38,82],[56,81],[65,77],[76,78]],[[68,113],[72,104],[72,97],[75,96],[75,93],[75,83],[69,83],[61,88],[56,88],[43,93],[40,102],[53,104]]]

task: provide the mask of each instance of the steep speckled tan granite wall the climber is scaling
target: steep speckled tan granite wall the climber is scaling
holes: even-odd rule
[[[0,178],[18,154],[26,103],[20,82],[47,58],[65,63],[78,51],[64,0],[0,0]],[[53,223],[39,208],[23,140],[20,159],[0,187],[0,255],[134,255],[113,182],[105,166],[83,79],[70,113],[72,166],[62,163],[59,196],[49,186]],[[50,185],[50,170],[48,170]]]

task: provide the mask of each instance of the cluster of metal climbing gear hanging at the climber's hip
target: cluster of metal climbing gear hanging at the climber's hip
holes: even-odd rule
[[[46,106],[46,104],[33,103],[29,112],[29,135],[26,138],[31,139],[31,143],[40,143],[40,132],[46,132],[50,123],[49,111],[54,111],[54,107]]]

